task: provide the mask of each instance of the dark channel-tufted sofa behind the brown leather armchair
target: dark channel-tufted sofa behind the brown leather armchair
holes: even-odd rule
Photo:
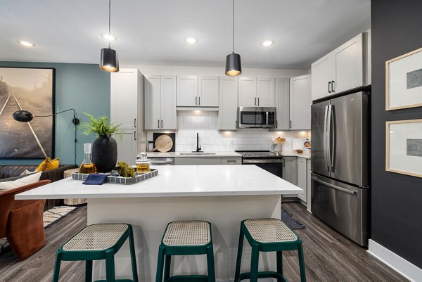
[[[0,165],[0,179],[18,179],[20,174],[25,172],[27,169],[30,172],[33,172],[37,169],[38,165]],[[77,165],[60,165],[57,169],[51,169],[46,172],[41,173],[39,180],[49,180],[51,182],[58,181],[63,179],[63,173],[65,170],[76,168]],[[56,207],[57,205],[62,205],[63,200],[60,199],[49,199],[46,200],[44,210],[49,210],[51,207]]]

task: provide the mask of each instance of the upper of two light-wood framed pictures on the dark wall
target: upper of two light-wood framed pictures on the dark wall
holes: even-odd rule
[[[422,48],[385,62],[385,110],[422,107]]]

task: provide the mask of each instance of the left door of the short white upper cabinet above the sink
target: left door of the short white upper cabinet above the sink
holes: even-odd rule
[[[178,107],[198,105],[198,77],[196,75],[178,75],[176,84]]]

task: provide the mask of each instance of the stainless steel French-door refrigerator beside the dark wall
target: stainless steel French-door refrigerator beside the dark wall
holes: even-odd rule
[[[369,94],[312,105],[311,210],[359,245],[368,244]]]

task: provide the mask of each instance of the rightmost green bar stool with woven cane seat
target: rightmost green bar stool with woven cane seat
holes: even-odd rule
[[[240,273],[243,249],[243,236],[252,247],[250,272]],[[306,282],[305,261],[303,259],[302,241],[280,219],[246,219],[241,223],[236,272],[234,282],[250,278],[276,278],[277,282],[287,281],[283,276],[283,250],[298,250],[300,281]],[[277,271],[258,271],[260,252],[276,252]]]

